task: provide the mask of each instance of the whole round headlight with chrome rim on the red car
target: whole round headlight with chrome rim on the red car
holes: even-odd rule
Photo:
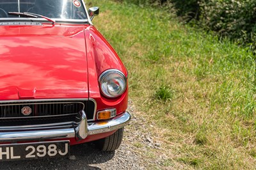
[[[106,70],[99,77],[100,89],[104,96],[115,98],[122,95],[126,89],[126,77],[119,70]]]

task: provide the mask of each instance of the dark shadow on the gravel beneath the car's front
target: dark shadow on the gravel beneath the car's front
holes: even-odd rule
[[[65,157],[1,162],[0,169],[100,169],[93,167],[93,164],[108,162],[115,156],[115,151],[101,152],[93,143],[85,143],[70,146],[70,155],[74,155],[76,159]]]

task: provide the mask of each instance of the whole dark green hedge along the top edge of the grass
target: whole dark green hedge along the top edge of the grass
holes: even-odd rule
[[[252,0],[116,0],[164,8],[183,23],[213,31],[256,52],[256,1]]]

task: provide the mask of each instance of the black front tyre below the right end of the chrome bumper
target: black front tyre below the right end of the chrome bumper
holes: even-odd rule
[[[120,144],[122,143],[124,135],[124,128],[120,128],[116,130],[116,132],[112,135],[104,139],[100,139],[95,141],[95,145],[101,151],[115,151],[119,148]]]

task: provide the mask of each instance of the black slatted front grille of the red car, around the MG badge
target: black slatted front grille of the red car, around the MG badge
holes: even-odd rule
[[[29,107],[31,114],[22,114],[22,108]],[[92,100],[0,102],[1,126],[43,125],[51,123],[76,124],[77,113],[86,112],[88,120],[93,120],[95,103]]]

